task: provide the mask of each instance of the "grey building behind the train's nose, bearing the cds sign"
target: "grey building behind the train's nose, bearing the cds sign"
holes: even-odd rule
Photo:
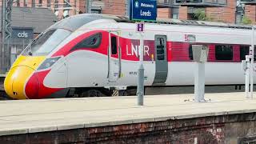
[[[0,9],[0,18],[2,18],[1,15],[2,9]],[[58,18],[49,9],[16,6],[12,9],[11,18],[12,33],[9,42],[7,40],[5,42],[9,49],[4,51],[6,60],[4,69],[6,70],[10,68],[32,39],[58,21]],[[2,30],[0,33],[2,39]],[[2,41],[0,45],[2,46]]]

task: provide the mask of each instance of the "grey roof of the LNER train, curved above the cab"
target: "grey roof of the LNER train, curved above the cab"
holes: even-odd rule
[[[49,29],[63,28],[70,31],[77,30],[79,27],[85,25],[86,23],[92,22],[98,19],[114,19],[116,22],[129,22],[129,18],[125,16],[110,15],[110,14],[77,14],[69,18],[64,18],[59,22],[56,22]],[[166,25],[184,25],[184,26],[210,26],[210,27],[223,27],[223,28],[235,28],[235,29],[252,29],[251,25],[237,25],[225,22],[206,22],[206,21],[194,21],[194,20],[179,20],[170,18],[157,18],[157,21],[151,22],[146,21],[146,23],[158,23]]]

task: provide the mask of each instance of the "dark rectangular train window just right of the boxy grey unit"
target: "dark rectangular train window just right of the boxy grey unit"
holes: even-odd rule
[[[216,45],[215,58],[216,60],[233,60],[233,46]]]

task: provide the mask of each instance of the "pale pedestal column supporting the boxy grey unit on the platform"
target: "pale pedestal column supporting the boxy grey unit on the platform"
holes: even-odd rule
[[[204,102],[205,94],[205,62],[195,62],[194,101]]]

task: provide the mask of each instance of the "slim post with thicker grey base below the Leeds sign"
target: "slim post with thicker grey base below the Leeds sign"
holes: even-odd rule
[[[139,67],[138,67],[138,87],[137,87],[137,96],[138,96],[138,106],[144,105],[144,66],[143,66],[143,57],[144,57],[144,35],[141,34],[140,38],[140,50],[139,50]]]

